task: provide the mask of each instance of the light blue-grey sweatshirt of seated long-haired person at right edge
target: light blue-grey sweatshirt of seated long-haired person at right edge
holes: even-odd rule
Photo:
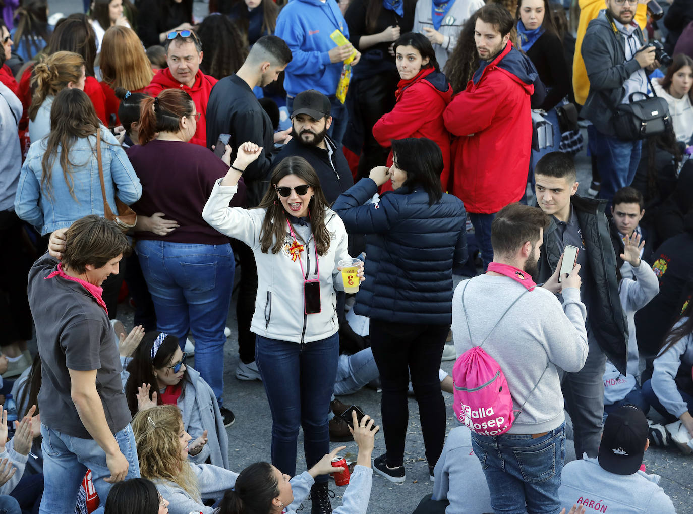
[[[687,317],[681,319],[675,327],[681,326],[687,320]],[[693,334],[679,339],[671,348],[654,360],[654,371],[650,382],[652,391],[657,395],[667,412],[677,418],[688,410],[688,406],[681,398],[681,393],[678,392],[676,382],[674,382],[681,363],[687,364],[689,369],[693,366]]]

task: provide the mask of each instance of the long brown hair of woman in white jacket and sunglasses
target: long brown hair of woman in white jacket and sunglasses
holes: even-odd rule
[[[303,157],[286,157],[274,168],[270,188],[263,197],[260,205],[256,209],[267,209],[265,220],[260,231],[260,246],[264,254],[272,248],[272,254],[278,254],[284,246],[286,236],[286,210],[277,199],[277,190],[274,188],[277,183],[287,175],[296,175],[304,179],[306,184],[313,186],[313,197],[308,202],[308,213],[310,213],[310,231],[315,238],[315,247],[319,255],[325,255],[330,247],[330,231],[325,226],[325,213],[327,210],[327,200],[320,187],[320,179]]]

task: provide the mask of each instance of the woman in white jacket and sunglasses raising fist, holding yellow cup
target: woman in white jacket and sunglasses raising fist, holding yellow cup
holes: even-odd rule
[[[272,410],[272,464],[293,476],[299,427],[308,468],[329,452],[327,412],[339,357],[335,289],[344,289],[337,263],[349,258],[347,231],[301,157],[279,163],[256,209],[229,207],[243,170],[261,150],[253,143],[238,148],[202,218],[245,242],[255,256],[258,292],[250,330]],[[223,159],[230,166],[231,147]],[[316,477],[311,488],[313,513],[331,512],[327,478]]]

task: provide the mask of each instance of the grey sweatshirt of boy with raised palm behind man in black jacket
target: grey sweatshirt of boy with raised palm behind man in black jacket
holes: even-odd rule
[[[618,286],[621,306],[626,314],[626,319],[628,319],[629,336],[626,376],[621,375],[616,366],[606,361],[604,369],[604,405],[611,405],[623,400],[635,387],[635,375],[638,375],[638,364],[640,363],[638,340],[635,337],[635,312],[647,305],[659,292],[658,278],[647,263],[641,260],[638,267],[632,267],[628,264],[628,269],[635,277],[635,280],[623,278]]]

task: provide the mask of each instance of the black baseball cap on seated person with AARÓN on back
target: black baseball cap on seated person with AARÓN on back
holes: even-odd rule
[[[616,475],[633,475],[642,464],[647,443],[647,419],[634,405],[616,409],[606,418],[599,466]]]

